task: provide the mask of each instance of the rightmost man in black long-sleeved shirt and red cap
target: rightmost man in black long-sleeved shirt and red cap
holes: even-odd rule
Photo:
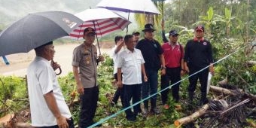
[[[189,72],[189,75],[193,75],[195,72],[204,69],[213,63],[212,58],[212,45],[209,41],[203,38],[205,29],[203,26],[197,26],[195,29],[195,37],[192,40],[187,41],[184,52],[184,69]],[[206,104],[208,102],[206,98],[207,78],[209,72],[214,74],[213,66],[210,66],[203,71],[190,76],[188,95],[190,102],[193,101],[194,91],[196,90],[197,80],[200,80],[201,84],[201,100],[200,104]]]

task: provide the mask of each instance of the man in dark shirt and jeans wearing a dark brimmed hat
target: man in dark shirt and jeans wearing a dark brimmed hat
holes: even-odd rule
[[[159,42],[154,40],[154,26],[150,23],[145,25],[145,38],[140,40],[136,45],[136,48],[142,51],[142,56],[145,59],[145,71],[148,77],[148,82],[142,84],[142,99],[154,93],[157,93],[158,85],[158,70],[161,69],[161,74],[166,74],[166,67],[163,58],[163,49]],[[162,66],[162,68],[161,68]],[[143,114],[148,115],[148,100],[144,102]],[[151,97],[151,112],[153,114],[159,114],[157,110],[157,96]]]

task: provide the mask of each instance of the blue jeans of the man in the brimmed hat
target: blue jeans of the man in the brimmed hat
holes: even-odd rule
[[[142,83],[142,99],[145,99],[150,95],[157,93],[158,85],[158,70],[156,69],[145,69],[148,77],[148,82]],[[151,109],[157,107],[157,95],[151,97]],[[144,101],[144,108],[148,109],[148,100]]]

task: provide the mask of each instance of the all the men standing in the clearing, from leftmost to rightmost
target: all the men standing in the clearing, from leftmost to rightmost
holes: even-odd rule
[[[159,114],[157,110],[158,72],[161,75],[161,89],[172,86],[172,96],[178,102],[178,81],[181,75],[188,72],[193,75],[200,69],[212,64],[212,46],[209,41],[203,38],[203,26],[195,29],[195,38],[187,41],[183,48],[178,44],[178,32],[169,32],[169,41],[162,46],[154,39],[154,26],[146,24],[142,30],[145,38],[139,41],[139,32],[133,35],[116,37],[116,46],[113,50],[114,78],[117,80],[117,98],[113,103],[117,103],[118,93],[121,96],[123,108],[145,99],[144,111],[140,105],[135,105],[133,111],[126,110],[126,119],[134,121],[139,113],[148,115],[148,112]],[[80,94],[81,112],[78,125],[81,128],[91,126],[96,113],[97,101],[99,99],[99,86],[97,79],[97,65],[104,61],[104,57],[97,54],[93,45],[96,32],[93,28],[84,29],[84,43],[75,47],[73,52],[72,67]],[[126,46],[124,48],[124,45]],[[59,65],[55,62],[50,64],[55,50],[53,42],[35,48],[36,57],[28,68],[28,90],[32,116],[32,126],[37,127],[74,127],[72,114],[64,100],[56,79],[55,69]],[[206,81],[208,72],[214,72],[213,66],[203,70],[189,78],[188,87],[190,101],[193,100],[197,79],[200,79],[202,98],[201,102],[206,103]],[[162,92],[162,102],[164,108],[167,105],[168,90]],[[151,96],[149,107],[148,96]],[[40,107],[38,107],[40,106]],[[149,109],[150,108],[150,109]]]

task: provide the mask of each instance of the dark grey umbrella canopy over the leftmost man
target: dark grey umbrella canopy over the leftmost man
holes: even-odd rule
[[[75,15],[62,11],[29,14],[0,33],[0,56],[29,52],[69,35],[81,23],[83,21]]]

